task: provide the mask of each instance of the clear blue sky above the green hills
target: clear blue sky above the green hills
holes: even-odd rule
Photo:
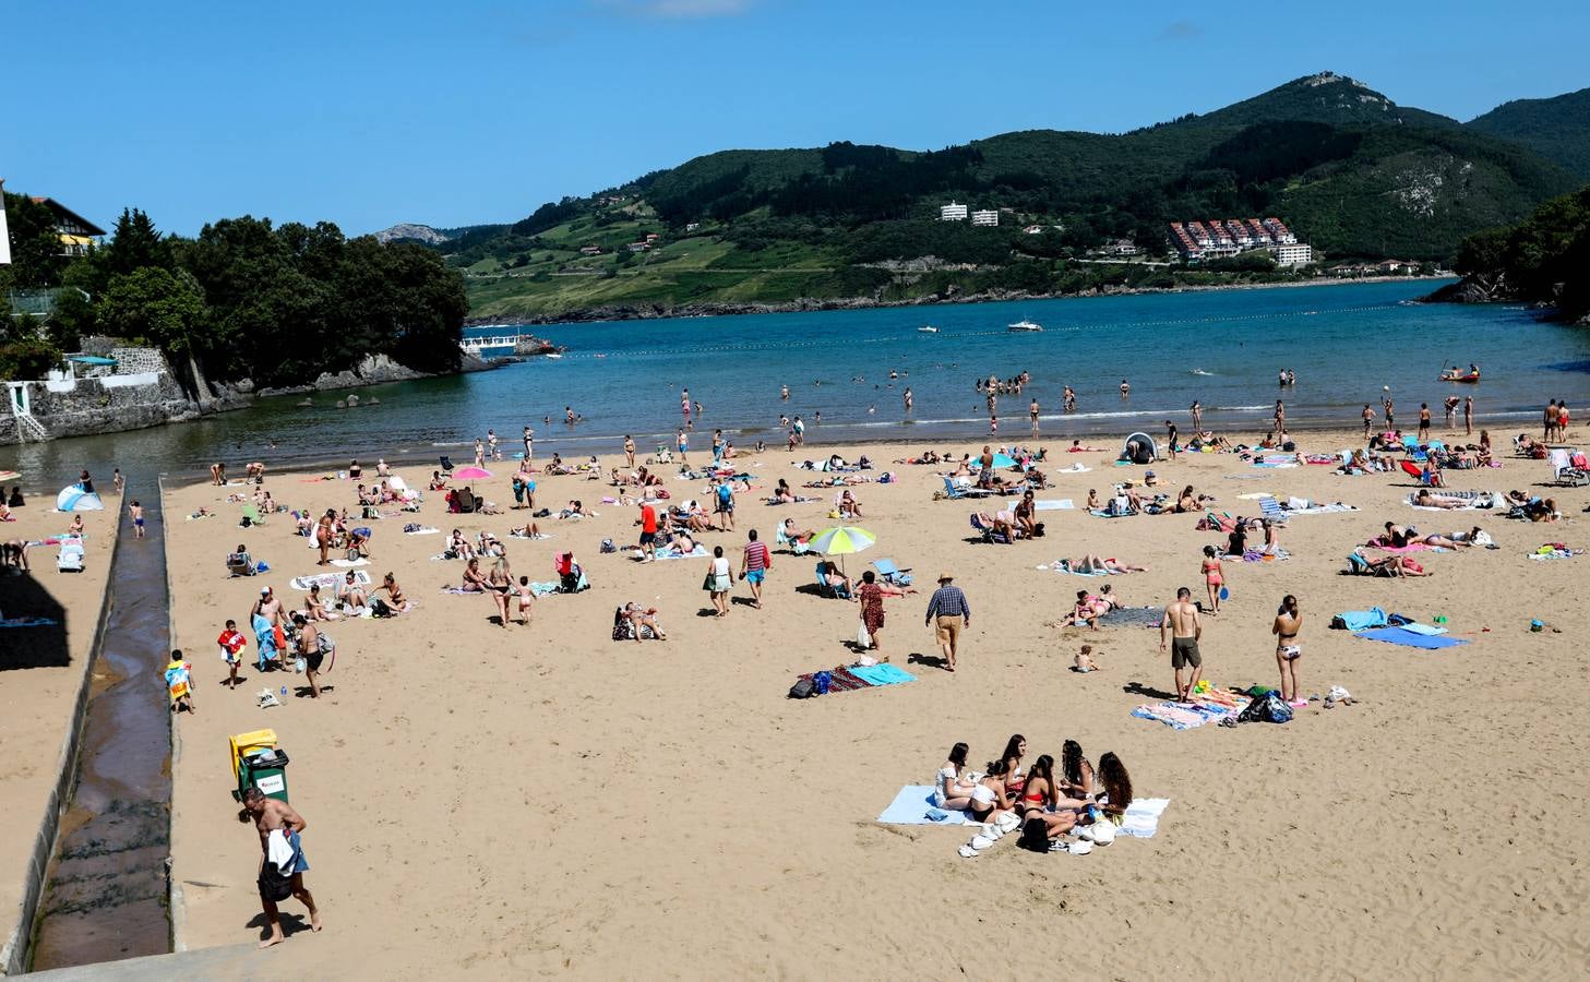
[[[1469,119],[1590,5],[320,0],[3,8],[0,178],[110,224],[514,221],[725,148],[1124,130],[1334,70]]]

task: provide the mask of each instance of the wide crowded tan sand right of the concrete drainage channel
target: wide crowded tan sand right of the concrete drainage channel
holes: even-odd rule
[[[1359,445],[1353,434],[1305,440],[1307,450]],[[760,501],[779,477],[814,477],[793,461],[835,450],[882,462],[919,448],[743,456],[758,493],[739,497],[736,532],[703,542],[722,543],[738,569],[749,528],[771,543],[785,516],[836,524],[827,518],[832,491],[808,493],[822,499],[809,504]],[[1057,474],[1041,497],[1081,505],[1089,488],[1143,470],[1113,467],[1113,453],[1062,453],[1048,470],[1075,459],[1092,472]],[[857,524],[878,545],[844,564],[859,575],[887,556],[914,570],[921,593],[887,602],[882,653],[917,679],[812,701],[785,693],[798,672],[852,661],[844,642],[857,628],[855,605],[798,590],[812,582],[814,558],[778,553],[765,609],[736,604],[712,620],[706,559],[638,564],[598,551],[603,539],[638,539],[638,508],[596,504],[612,488],[584,477],[539,480],[537,505],[580,499],[599,512],[541,520],[549,540],[507,539],[528,512],[450,516],[439,494],[418,516],[367,523],[366,569],[377,582],[394,570],[418,610],[329,624],[337,659],[318,702],[293,696],[302,677],[259,677],[253,645],[246,682],[226,691],[213,647],[224,618],[245,623],[261,583],[297,599],[286,580],[315,572],[315,553],[285,515],[240,529],[223,489],[169,489],[167,515],[205,505],[227,516],[167,526],[178,644],[204,696],[199,717],[178,720],[180,941],[262,936],[258,839],[229,794],[226,737],[269,726],[293,761],[291,799],[308,822],[307,883],[326,922],[310,934],[302,907],[283,904],[286,944],[262,955],[281,971],[938,979],[1054,971],[1059,960],[1110,977],[1231,977],[1253,960],[1297,976],[1582,971],[1590,709],[1580,693],[1590,669],[1577,639],[1590,629],[1590,558],[1541,563],[1525,551],[1545,540],[1590,545],[1577,515],[1590,493],[1552,493],[1569,518],[1531,526],[1415,512],[1401,474],[1258,470],[1231,454],[1156,464],[1162,489],[1191,483],[1232,513],[1255,513],[1239,496],[1258,491],[1361,508],[1293,518],[1289,561],[1227,561],[1232,597],[1208,618],[1202,644],[1216,685],[1274,685],[1270,623],[1293,593],[1305,617],[1304,690],[1344,685],[1361,702],[1315,702],[1285,726],[1172,731],[1129,715],[1151,701],[1127,691],[1132,683],[1170,688],[1158,632],[1045,626],[1076,590],[1100,582],[1035,566],[1100,553],[1150,567],[1110,580],[1127,604],[1162,605],[1181,585],[1202,597],[1200,550],[1216,535],[1196,531],[1196,516],[1045,512],[1045,539],[983,545],[968,542],[978,505],[932,499],[943,486],[933,467],[881,466],[902,480],[855,488],[867,515]],[[494,470],[474,486],[507,505],[514,464]],[[399,474],[423,488],[429,469]],[[1545,462],[1522,459],[1450,475],[1455,488],[1536,491],[1549,477]],[[668,486],[674,501],[706,497],[703,481]],[[348,481],[281,474],[267,488],[312,512],[353,505]],[[572,548],[593,586],[539,601],[529,628],[499,628],[487,597],[439,593],[463,564],[428,559],[444,537],[401,534],[413,520],[494,531],[515,577],[533,580],[552,580],[553,553]],[[1477,523],[1501,548],[1421,553],[1429,578],[1342,575],[1345,553],[1385,520],[1425,531]],[[237,542],[272,572],[219,578]],[[973,607],[954,675],[908,663],[937,655],[922,617],[940,570]],[[746,586],[735,596],[747,597]],[[625,601],[660,607],[669,640],[609,640]],[[1328,629],[1332,613],[1369,605],[1425,621],[1445,615],[1472,644],[1425,651]],[[1531,617],[1547,631],[1531,634]],[[1099,672],[1067,671],[1081,644],[1094,645]],[[254,707],[258,690],[281,685],[285,706]],[[902,785],[930,783],[954,742],[967,740],[981,769],[1013,733],[1027,737],[1029,764],[1038,753],[1059,758],[1064,739],[1094,761],[1118,753],[1138,798],[1170,799],[1159,834],[1089,856],[1027,853],[1010,836],[962,860],[965,829],[874,822]]]

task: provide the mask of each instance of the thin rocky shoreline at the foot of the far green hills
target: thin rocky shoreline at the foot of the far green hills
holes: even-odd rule
[[[937,296],[917,297],[913,300],[876,300],[871,297],[833,297],[819,300],[812,297],[801,297],[800,300],[785,300],[778,303],[712,302],[712,303],[685,303],[681,307],[661,307],[660,303],[615,303],[601,307],[584,307],[561,315],[531,315],[531,316],[514,315],[514,313],[502,313],[496,316],[471,315],[464,318],[464,327],[485,327],[491,324],[507,324],[515,327],[542,327],[542,326],[558,326],[558,324],[722,318],[722,316],[744,316],[744,315],[763,315],[763,313],[882,310],[882,308],[903,308],[903,307],[943,307],[952,303],[1005,303],[1011,300],[1094,300],[1100,297],[1135,297],[1150,294],[1224,292],[1239,289],[1297,289],[1304,286],[1352,286],[1364,283],[1410,283],[1410,281],[1442,281],[1442,280],[1453,280],[1453,276],[1359,276],[1352,280],[1340,276],[1315,276],[1312,280],[1296,280],[1286,283],[1220,283],[1208,286],[1177,286],[1169,289],[1129,286],[1129,288],[1102,288],[1075,294],[1067,294],[1067,292],[1029,294],[1022,291],[1011,291],[997,294],[967,294],[959,297],[937,297]],[[1434,300],[1421,299],[1420,302],[1434,302]]]

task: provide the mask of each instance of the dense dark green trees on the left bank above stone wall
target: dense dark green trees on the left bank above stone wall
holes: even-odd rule
[[[458,369],[467,302],[432,249],[248,216],[183,238],[134,208],[103,246],[67,257],[43,205],[14,194],[5,203],[13,264],[0,267],[0,299],[56,291],[43,323],[3,318],[8,378],[41,377],[87,334],[159,346],[192,386],[304,385],[367,354],[420,372]]]

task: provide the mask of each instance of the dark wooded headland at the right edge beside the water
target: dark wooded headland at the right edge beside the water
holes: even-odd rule
[[[1456,272],[1488,299],[1555,303],[1568,319],[1590,316],[1590,186],[1552,199],[1510,229],[1471,235]]]

